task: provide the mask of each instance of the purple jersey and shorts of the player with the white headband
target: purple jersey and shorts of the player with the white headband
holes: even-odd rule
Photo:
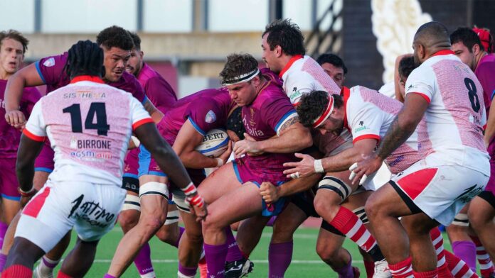
[[[284,123],[297,116],[289,97],[284,93],[280,79],[272,72],[263,71],[268,79],[252,104],[243,106],[242,118],[246,132],[255,140],[267,140],[280,135]],[[245,156],[235,160],[240,182],[287,181],[282,174],[284,162],[295,160],[292,153],[270,153]]]

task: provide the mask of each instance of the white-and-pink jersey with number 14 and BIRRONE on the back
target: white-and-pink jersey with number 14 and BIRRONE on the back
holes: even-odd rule
[[[23,134],[50,140],[54,182],[120,187],[129,138],[144,123],[153,121],[132,94],[97,77],[80,76],[36,103]]]

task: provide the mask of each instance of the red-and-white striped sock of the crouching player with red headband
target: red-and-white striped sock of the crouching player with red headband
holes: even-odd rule
[[[376,246],[376,240],[368,229],[363,225],[363,221],[356,216],[352,211],[341,206],[330,222],[341,233],[355,242],[361,249],[369,252],[371,248]]]

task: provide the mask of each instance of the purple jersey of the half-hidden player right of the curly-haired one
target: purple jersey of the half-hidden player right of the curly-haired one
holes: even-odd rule
[[[151,101],[161,113],[166,113],[176,103],[177,96],[169,82],[166,82],[164,77],[161,77],[158,72],[153,70],[146,63],[143,64],[143,68],[137,75],[137,81],[139,81],[144,88],[144,92],[149,101]]]

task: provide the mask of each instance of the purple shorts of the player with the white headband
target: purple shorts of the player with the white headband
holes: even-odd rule
[[[274,162],[272,160],[272,162]],[[232,162],[235,175],[241,184],[252,182],[260,187],[262,182],[271,182],[275,186],[280,186],[289,179],[284,175],[284,167],[282,163],[272,163],[269,158],[264,160],[264,164],[260,165],[260,161],[252,160],[252,157],[240,157]],[[262,216],[276,216],[285,207],[285,198],[280,198],[275,204],[267,204],[262,200]]]

